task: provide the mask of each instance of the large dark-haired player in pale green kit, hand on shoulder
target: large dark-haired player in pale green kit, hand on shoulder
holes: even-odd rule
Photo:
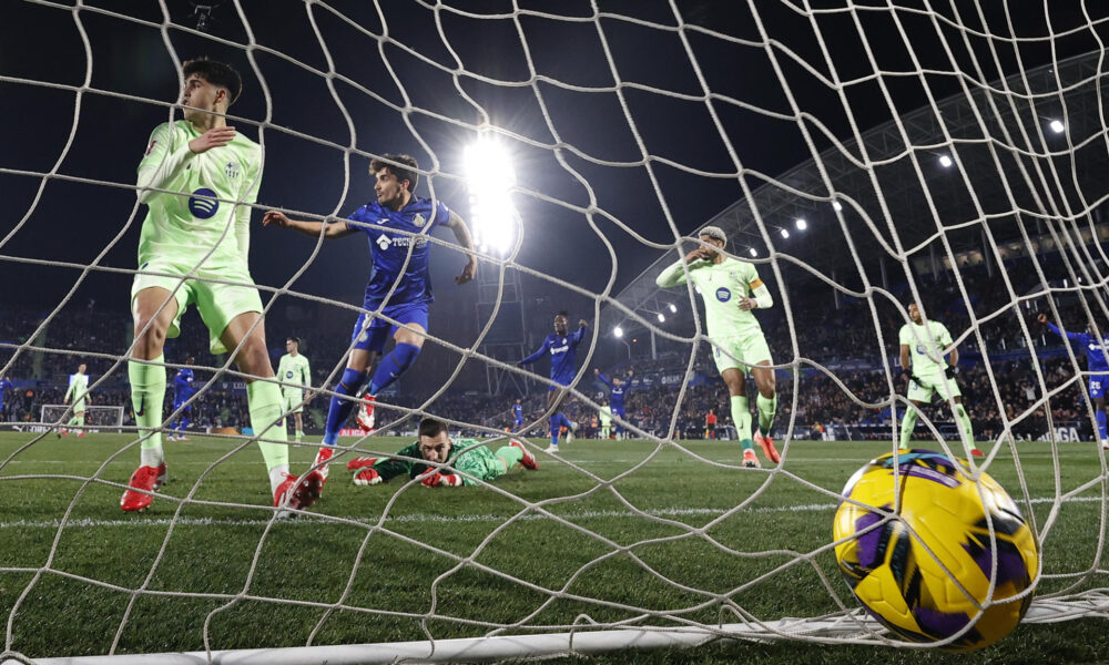
[[[195,305],[213,354],[234,354],[246,375],[251,426],[265,458],[274,505],[304,509],[318,497],[315,471],[288,473],[288,447],[277,383],[262,324],[262,298],[247,268],[251,206],[262,182],[261,147],[227,125],[227,108],[242,80],[230,65],[206,59],[184,63],[184,120],[154,129],[139,164],[139,202],[147,205],[139,237],[139,269],[131,287],[134,344],[128,374],[135,423],[142,434],[139,469],[120,500],[142,510],[165,480],[162,400],[166,337],[176,337],[185,308]],[[276,427],[275,427],[276,426]]]

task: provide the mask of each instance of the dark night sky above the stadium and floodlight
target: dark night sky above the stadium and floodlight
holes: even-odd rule
[[[480,114],[461,89],[492,125],[507,133],[501,140],[516,161],[515,202],[523,219],[517,262],[594,291],[604,288],[614,272],[612,293],[619,293],[661,256],[662,249],[651,244],[674,242],[668,212],[678,231],[688,234],[742,196],[729,145],[743,168],[769,176],[813,156],[797,121],[765,113],[792,115],[775,63],[794,102],[810,114],[804,123],[816,151],[832,145],[825,132],[851,136],[838,95],[816,75],[831,72],[800,2],[600,2],[604,16],[594,20],[591,3],[572,0],[519,0],[516,4],[523,11],[517,14],[509,1],[454,1],[448,6],[458,11],[450,11],[413,0],[350,0],[314,4],[309,12],[299,0],[244,0],[238,6],[227,0],[212,11],[206,34],[195,31],[193,7],[185,0],[164,3],[170,22],[164,31],[157,25],[165,20],[160,2],[85,4],[74,13],[64,2],[7,0],[0,10],[0,114],[7,127],[0,143],[4,203],[0,279],[29,287],[6,289],[2,307],[49,310],[81,274],[72,267],[31,266],[13,257],[89,264],[102,255],[99,265],[134,268],[145,208],[136,208],[128,186],[134,183],[151,130],[169,117],[170,104],[177,99],[166,41],[177,59],[208,55],[240,70],[244,93],[231,112],[245,120],[233,124],[257,140],[260,123],[271,116],[262,130],[266,165],[258,203],[307,214],[345,217],[373,195],[365,155],[407,152],[421,167],[435,171],[435,194],[466,217],[461,154],[477,135]],[[1097,48],[1089,30],[1072,34],[1068,30],[1086,22],[1083,11],[1106,13],[1100,3],[1083,8],[1054,2],[1050,17],[1044,16],[1040,2],[988,4],[984,27],[973,2],[936,3],[933,9],[944,20],[935,21],[918,11],[919,2],[896,2],[896,12],[885,2],[862,2],[854,13],[837,11],[838,3],[807,3],[820,10],[815,22],[836,74],[855,81],[847,85],[846,96],[862,131],[891,120],[894,112],[877,94],[867,51],[874,53],[897,111],[925,102],[920,78],[906,74],[914,71],[914,62],[898,27],[909,35],[924,69],[953,69],[940,48],[943,35],[955,44],[963,66],[969,66],[970,51],[979,59],[990,55],[987,61],[996,55],[1000,68],[986,72],[993,79],[1018,71],[1018,58],[1030,68]],[[126,11],[153,24],[96,8]],[[689,25],[714,33],[690,28],[680,33],[673,29],[675,12]],[[994,37],[971,37],[967,47],[963,33],[948,21],[973,30],[986,28]],[[387,39],[381,37],[385,30]],[[1059,38],[1008,39],[1051,33]],[[774,62],[763,43],[766,38]],[[248,51],[244,49],[252,43]],[[702,99],[649,90],[703,94],[686,45],[714,94],[723,136]],[[352,119],[353,133],[326,79],[315,73],[328,70],[328,58],[345,79],[334,80],[335,94]],[[456,58],[468,73],[452,75]],[[540,78],[535,84],[529,83],[529,61]],[[89,90],[80,95],[13,81],[81,86],[87,73]],[[622,100],[612,91],[617,78],[624,84]],[[958,90],[950,73],[928,74],[926,81],[937,98]],[[75,131],[68,145],[71,129]],[[342,149],[299,134],[353,145],[354,151],[347,162]],[[549,147],[556,142],[564,165]],[[658,191],[644,166],[644,149],[652,156]],[[347,163],[349,182],[344,190]],[[47,178],[40,195],[43,178],[34,174],[55,168],[58,177]],[[749,178],[749,184],[756,186],[759,181]],[[429,194],[428,178],[421,178],[417,193]],[[592,215],[593,226],[589,215],[576,209],[589,205],[590,193],[600,211]],[[281,286],[301,268],[314,244],[291,232],[262,228],[261,216],[256,211],[252,273],[261,285]],[[611,242],[615,265],[599,234]],[[449,232],[439,237],[451,238]],[[459,293],[464,295],[458,297],[472,297],[452,291],[457,287],[450,278],[462,263],[459,255],[437,249],[433,274],[440,298]],[[330,242],[292,288],[356,303],[368,265],[369,252],[360,236]],[[78,298],[95,297],[103,307],[125,311],[130,283],[128,274],[93,272]]]

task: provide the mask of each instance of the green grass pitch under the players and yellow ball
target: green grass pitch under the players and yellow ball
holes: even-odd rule
[[[262,457],[241,440],[167,442],[171,482],[119,509],[139,452],[126,434],[0,434],[0,617],[26,656],[377,643],[562,632],[600,623],[774,621],[855,601],[832,551],[835,495],[888,446],[792,442],[781,469],[737,468],[734,442],[574,441],[492,488],[359,488],[345,462],[407,440],[355,443],[311,515],[274,521]],[[533,440],[532,450],[546,447]],[[496,446],[496,444],[495,444]],[[1020,443],[1038,529],[1039,593],[1109,586],[1099,560],[1105,469],[1090,443]],[[934,447],[934,446],[933,446]],[[316,447],[293,450],[303,471]],[[17,452],[19,451],[19,452]],[[988,471],[1021,503],[1017,466]],[[1058,477],[1058,487],[1057,487]],[[1055,498],[1085,488],[1067,501]],[[1027,504],[1021,503],[1022,507]],[[1055,511],[1055,512],[1052,512]],[[557,515],[552,518],[551,515]],[[1103,554],[1101,554],[1103,556]],[[205,628],[206,625],[206,628]],[[596,663],[1092,663],[1109,624],[1021,625],[973,655],[868,645],[726,642],[622,651]],[[205,642],[206,637],[206,642]],[[568,658],[580,662],[581,658]]]

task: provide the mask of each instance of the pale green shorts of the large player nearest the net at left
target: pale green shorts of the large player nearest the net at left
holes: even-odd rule
[[[195,266],[194,262],[157,258],[139,267],[131,285],[131,304],[134,305],[139,291],[161,287],[173,294],[177,300],[177,316],[165,331],[169,338],[181,335],[181,317],[185,308],[195,305],[201,319],[208,329],[208,348],[213,354],[226,354],[227,348],[220,336],[236,316],[247,311],[262,313],[262,298],[254,287],[254,279],[246,264],[220,268],[201,267],[192,277],[183,279]],[[151,275],[150,273],[157,273]],[[166,275],[177,275],[170,277]],[[218,279],[220,282],[208,282]],[[233,284],[223,284],[231,282]]]

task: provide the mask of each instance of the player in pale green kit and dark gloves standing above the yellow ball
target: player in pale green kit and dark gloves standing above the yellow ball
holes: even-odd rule
[[[970,416],[963,406],[963,391],[955,382],[959,366],[959,350],[952,344],[952,334],[939,321],[924,321],[920,308],[916,303],[908,306],[910,324],[902,326],[898,339],[901,341],[902,369],[908,375],[908,401],[913,403],[906,409],[902,419],[901,447],[908,448],[916,426],[917,409],[932,402],[933,393],[938,392],[945,402],[955,402],[955,420],[963,433],[964,444],[974,457],[981,457],[974,442],[974,426]],[[944,361],[946,349],[950,348],[950,364]]]

